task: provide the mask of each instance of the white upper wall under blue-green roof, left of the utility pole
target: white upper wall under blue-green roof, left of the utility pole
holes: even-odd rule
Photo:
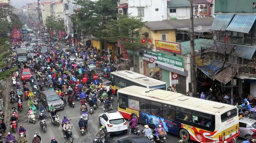
[[[188,19],[190,17],[189,7],[178,7],[176,8],[176,13],[170,13],[168,8],[169,17],[177,17],[177,19]]]

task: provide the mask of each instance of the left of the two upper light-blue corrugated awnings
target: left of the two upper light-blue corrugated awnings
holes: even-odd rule
[[[232,17],[233,14],[217,14],[213,20],[211,30],[225,31]]]

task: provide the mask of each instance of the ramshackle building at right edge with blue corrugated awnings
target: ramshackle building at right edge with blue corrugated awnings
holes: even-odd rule
[[[215,0],[212,61],[199,69],[234,95],[256,97],[256,3],[254,0]],[[218,63],[218,64],[216,64]],[[211,72],[209,72],[211,71]],[[232,72],[233,71],[233,72]]]

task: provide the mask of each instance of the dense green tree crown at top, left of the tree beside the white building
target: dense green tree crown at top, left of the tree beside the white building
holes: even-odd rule
[[[102,30],[109,21],[115,18],[117,13],[116,0],[77,0],[77,5],[81,8],[76,10],[77,28],[80,31],[86,30],[89,34],[102,38],[105,35]],[[93,15],[95,13],[96,15]]]

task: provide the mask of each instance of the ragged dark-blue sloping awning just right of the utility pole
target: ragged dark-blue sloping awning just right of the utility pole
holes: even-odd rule
[[[207,76],[209,76],[209,78],[211,78],[212,80],[214,80],[214,76],[219,73],[222,69],[221,67],[223,66],[222,61],[216,61],[214,60],[211,64],[204,66],[204,67],[199,67],[198,68]],[[227,63],[224,64],[223,68],[226,68],[228,66]]]

